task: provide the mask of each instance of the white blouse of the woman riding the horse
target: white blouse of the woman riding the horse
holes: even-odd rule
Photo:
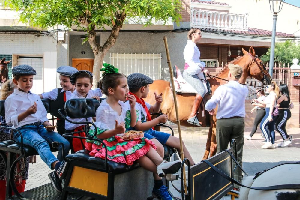
[[[183,56],[185,62],[189,65],[187,72],[191,75],[199,74],[205,67],[205,63],[200,61],[200,51],[199,48],[192,40],[187,40],[185,45]]]

